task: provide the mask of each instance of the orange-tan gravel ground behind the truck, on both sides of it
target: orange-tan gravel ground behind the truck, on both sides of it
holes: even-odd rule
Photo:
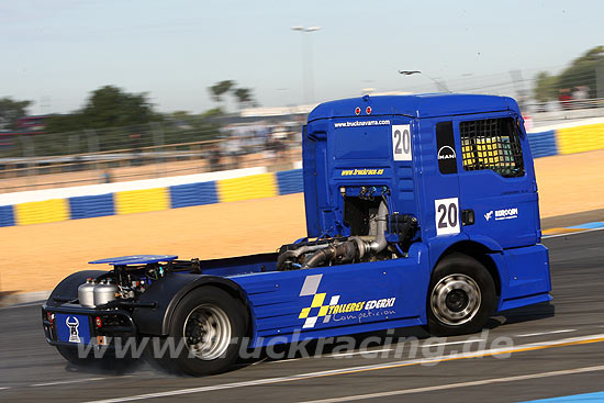
[[[543,217],[604,208],[604,150],[535,161]],[[276,250],[305,234],[301,193],[0,228],[0,291],[53,289],[89,260],[134,254],[202,259]]]

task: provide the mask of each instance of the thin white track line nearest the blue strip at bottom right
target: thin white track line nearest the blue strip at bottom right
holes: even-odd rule
[[[468,388],[468,387],[480,387],[480,385],[492,384],[492,383],[517,382],[517,381],[526,381],[526,380],[529,380],[529,379],[561,377],[561,376],[570,376],[570,374],[575,374],[575,373],[595,372],[595,371],[604,371],[604,366],[575,368],[575,369],[568,369],[568,370],[562,370],[562,371],[528,373],[528,374],[525,374],[525,376],[507,377],[507,378],[491,378],[491,379],[484,379],[484,380],[481,380],[481,381],[439,384],[439,385],[436,385],[436,387],[426,387],[426,388],[401,389],[401,390],[398,390],[398,391],[380,392],[380,393],[368,393],[368,394],[357,394],[357,395],[333,398],[333,399],[309,400],[309,401],[304,401],[304,402],[301,402],[301,403],[350,402],[350,401],[355,401],[355,400],[398,396],[398,395],[402,395],[402,394],[434,392],[434,391],[441,391],[441,390],[447,390],[447,389]]]

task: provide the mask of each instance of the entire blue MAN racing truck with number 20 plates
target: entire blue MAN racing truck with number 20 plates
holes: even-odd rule
[[[244,348],[424,325],[479,332],[551,300],[537,182],[518,105],[474,94],[388,96],[316,107],[303,130],[307,236],[213,260],[126,256],[76,272],[43,306],[46,339],[178,340],[157,357],[225,371]],[[226,223],[225,223],[226,224]],[[78,347],[79,346],[79,347]]]

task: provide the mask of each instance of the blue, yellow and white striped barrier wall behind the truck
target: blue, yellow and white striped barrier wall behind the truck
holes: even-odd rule
[[[604,149],[604,123],[529,133],[534,158]],[[303,191],[302,169],[248,168],[0,194],[0,226],[122,215]]]

